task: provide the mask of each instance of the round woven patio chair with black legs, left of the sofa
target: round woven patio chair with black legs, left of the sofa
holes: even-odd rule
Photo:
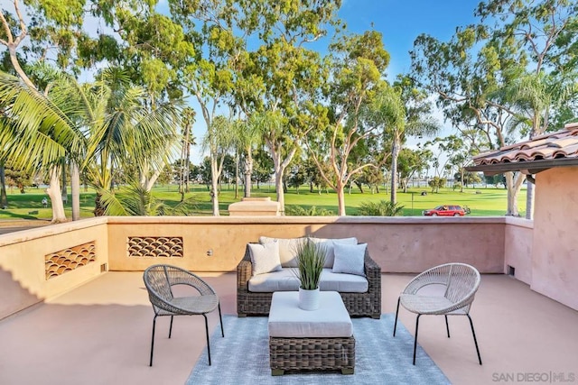
[[[200,277],[171,265],[153,265],[144,270],[144,286],[148,291],[148,298],[154,309],[153,336],[151,338],[151,361],[149,366],[153,366],[154,351],[154,327],[157,316],[171,316],[171,326],[169,328],[169,338],[172,334],[173,316],[203,316],[205,317],[205,333],[207,334],[207,353],[210,364],[210,344],[209,344],[209,323],[207,313],[219,308],[220,333],[224,337],[223,318],[220,314],[219,297],[208,283]],[[196,289],[199,295],[190,297],[174,297],[172,286],[187,285]]]

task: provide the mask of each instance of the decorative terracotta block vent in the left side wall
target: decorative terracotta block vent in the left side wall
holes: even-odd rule
[[[44,255],[46,280],[97,261],[94,241]]]

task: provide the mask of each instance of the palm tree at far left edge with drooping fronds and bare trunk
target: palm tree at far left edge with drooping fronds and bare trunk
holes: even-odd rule
[[[85,136],[70,116],[79,115],[77,105],[65,96],[66,79],[59,79],[42,95],[22,78],[0,71],[0,149],[14,166],[25,170],[43,168],[51,177],[52,222],[66,221],[61,200],[61,160],[82,156]]]

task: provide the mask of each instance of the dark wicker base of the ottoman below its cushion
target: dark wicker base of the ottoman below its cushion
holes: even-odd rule
[[[353,370],[355,338],[269,337],[271,370]]]

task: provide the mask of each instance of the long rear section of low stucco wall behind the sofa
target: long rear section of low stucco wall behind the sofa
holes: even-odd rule
[[[172,263],[196,271],[231,271],[245,245],[260,235],[291,238],[356,236],[383,271],[419,272],[463,261],[481,272],[504,270],[504,218],[430,217],[110,217],[109,270],[144,270]],[[182,236],[182,258],[128,257],[127,238]],[[209,252],[210,251],[210,252]],[[211,253],[212,255],[207,255]]]

